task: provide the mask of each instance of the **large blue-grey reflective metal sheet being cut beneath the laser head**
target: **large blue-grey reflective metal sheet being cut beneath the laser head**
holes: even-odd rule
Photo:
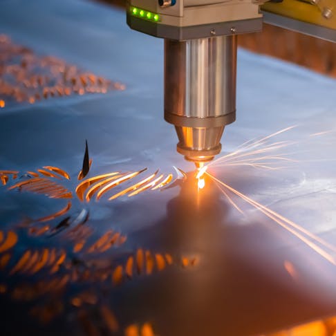
[[[333,263],[224,188],[239,212],[206,174],[198,189],[160,112],[162,41],[131,31],[124,12],[80,0],[2,1],[0,28],[37,55],[126,86],[0,109],[1,335],[265,335],[335,315]],[[238,56],[239,118],[221,158],[296,127],[268,139],[258,160],[228,156],[209,174],[335,248],[335,80]],[[92,164],[79,181],[85,140]],[[259,167],[285,154],[293,161],[273,159],[281,169]],[[187,178],[109,200],[157,169],[175,178],[173,166]],[[144,168],[99,200],[95,183],[81,185]],[[44,195],[50,181],[51,196],[72,198]]]

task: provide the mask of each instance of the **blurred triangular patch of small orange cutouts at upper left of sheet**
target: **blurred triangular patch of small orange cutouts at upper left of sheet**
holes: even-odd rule
[[[124,84],[82,71],[52,56],[39,56],[0,35],[0,109],[8,102],[34,104],[50,97],[107,93]]]

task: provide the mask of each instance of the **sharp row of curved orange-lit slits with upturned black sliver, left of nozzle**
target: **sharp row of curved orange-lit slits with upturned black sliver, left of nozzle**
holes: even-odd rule
[[[86,165],[88,162],[88,147],[86,144],[83,164],[83,167],[86,167],[86,169],[91,166]],[[82,174],[82,171],[80,172],[80,175]],[[75,194],[82,202],[85,199],[88,203],[94,196],[96,200],[100,200],[100,198],[111,192],[111,190],[120,185],[126,184],[130,180],[135,180],[137,176],[142,176],[144,171],[147,171],[147,168],[126,173],[114,171],[86,178],[77,185]],[[115,200],[125,195],[133,197],[149,190],[164,190],[167,187],[180,185],[180,183],[183,183],[183,180],[186,178],[185,173],[180,170],[180,174],[178,174],[174,180],[173,174],[170,173],[167,174],[167,176],[160,174],[158,176],[158,172],[159,170],[156,170],[154,173],[149,174],[149,176],[137,180],[136,183],[125,187],[121,191],[115,192],[115,194],[110,196],[108,200]],[[86,174],[88,174],[88,171],[86,171]],[[79,214],[69,214],[72,207],[71,199],[73,199],[73,192],[64,187],[61,183],[66,183],[66,181],[70,180],[70,175],[64,171],[64,169],[59,167],[44,166],[43,169],[37,169],[37,171],[27,171],[25,174],[20,176],[19,182],[17,182],[18,176],[19,171],[0,171],[0,178],[1,181],[3,181],[3,185],[12,183],[12,185],[8,187],[8,190],[10,191],[18,190],[19,192],[43,194],[48,198],[68,199],[66,206],[57,210],[57,212],[48,214],[47,216],[43,216],[41,218],[26,218],[24,221],[19,223],[18,227],[28,227],[28,234],[30,236],[48,235],[52,237],[55,236],[55,234],[64,232],[64,230],[67,230],[70,235],[75,235],[75,232],[77,232],[78,239],[76,241],[77,245],[75,250],[82,250],[84,246],[84,236],[80,237],[80,234],[82,234],[83,225],[88,221],[89,213],[87,209],[82,209]],[[82,176],[84,176],[84,174],[82,174]],[[60,218],[60,221],[55,225],[53,224],[53,221],[57,218]],[[91,232],[86,232],[86,234],[90,233]],[[87,238],[87,236],[85,238]],[[123,237],[121,239],[125,240]],[[111,238],[111,245],[114,245],[114,240],[115,239]]]

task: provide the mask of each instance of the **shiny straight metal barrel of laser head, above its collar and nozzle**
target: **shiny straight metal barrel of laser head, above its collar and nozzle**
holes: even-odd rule
[[[236,35],[165,40],[165,111],[220,117],[236,110]]]

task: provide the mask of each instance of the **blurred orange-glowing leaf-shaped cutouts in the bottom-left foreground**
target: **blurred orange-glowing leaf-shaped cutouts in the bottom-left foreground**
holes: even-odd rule
[[[136,277],[150,276],[154,272],[162,272],[167,267],[189,268],[196,265],[195,257],[182,256],[173,258],[169,253],[158,253],[138,248],[122,259],[106,258],[106,251],[113,245],[116,248],[124,244],[126,236],[119,232],[109,230],[100,238],[84,248],[77,248],[74,243],[73,252],[66,252],[62,248],[45,247],[41,249],[25,250],[18,258],[13,256],[18,236],[15,232],[7,234],[0,231],[0,268],[6,274],[8,283],[0,284],[0,294],[8,295],[15,301],[37,301],[32,306],[30,314],[43,324],[49,323],[55,317],[62,314],[65,308],[78,310],[79,315],[86,314],[86,309],[101,310],[101,318],[106,327],[113,333],[120,330],[120,324],[113,311],[104,304],[103,292],[81,291],[77,289],[70,301],[65,301],[66,288],[75,283],[92,284],[105,283],[109,286],[122,286],[125,281],[131,281]],[[91,257],[93,255],[93,258]],[[25,276],[24,283],[10,282],[10,279],[20,274]],[[29,281],[38,274],[38,281]],[[57,295],[57,300],[53,297]],[[47,298],[42,300],[42,297]],[[81,319],[79,318],[79,321]],[[125,335],[132,334],[132,330],[142,330],[141,335],[154,335],[151,324],[136,324],[126,326]],[[146,331],[147,330],[147,331]],[[87,332],[84,326],[84,331]],[[100,333],[97,333],[100,335]]]

